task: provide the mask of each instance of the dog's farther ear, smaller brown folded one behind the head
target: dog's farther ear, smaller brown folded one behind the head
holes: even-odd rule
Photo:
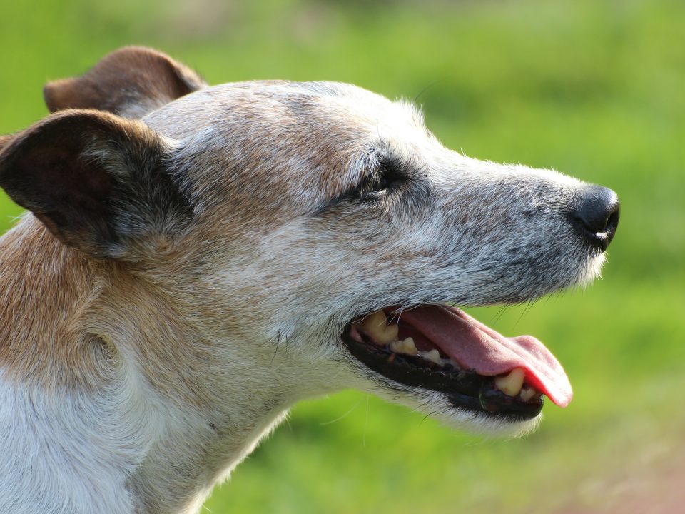
[[[49,82],[43,95],[50,112],[99,109],[135,119],[205,86],[195,71],[166,54],[125,46],[83,76]]]

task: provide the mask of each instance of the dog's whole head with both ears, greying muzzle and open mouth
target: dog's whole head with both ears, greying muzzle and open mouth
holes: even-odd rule
[[[227,369],[250,363],[293,400],[355,387],[490,432],[531,428],[540,393],[570,400],[542,343],[451,306],[591,281],[612,191],[467,158],[411,104],[355,86],[208,87],[147,49],[46,101],[55,114],[5,141],[0,185],[67,245],[191,298]]]

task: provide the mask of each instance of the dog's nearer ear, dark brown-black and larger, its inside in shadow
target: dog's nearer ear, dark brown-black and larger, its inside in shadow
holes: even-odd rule
[[[141,121],[64,111],[12,138],[0,153],[0,186],[66,245],[135,258],[192,218],[165,166],[170,152]]]

